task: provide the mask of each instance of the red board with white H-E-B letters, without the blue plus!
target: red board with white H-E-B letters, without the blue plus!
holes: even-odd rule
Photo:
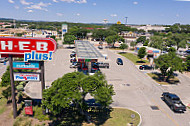
[[[56,41],[51,38],[0,37],[0,54],[24,54],[55,52]]]

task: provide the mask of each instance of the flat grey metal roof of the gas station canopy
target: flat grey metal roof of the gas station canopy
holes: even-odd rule
[[[103,58],[103,55],[89,41],[75,40],[75,47],[78,59]]]

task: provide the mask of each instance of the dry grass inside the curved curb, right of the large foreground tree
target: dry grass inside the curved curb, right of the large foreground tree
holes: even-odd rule
[[[135,114],[132,119],[131,115]],[[128,123],[133,123],[137,126],[140,123],[139,115],[128,109],[114,108],[110,113],[110,118],[102,126],[127,126]],[[83,126],[95,126],[95,124],[83,124]]]

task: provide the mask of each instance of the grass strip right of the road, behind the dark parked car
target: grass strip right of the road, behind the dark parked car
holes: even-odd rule
[[[120,53],[119,53],[120,54]],[[134,64],[136,65],[141,65],[141,64],[148,64],[148,60],[142,60],[139,59],[136,55],[132,53],[121,53],[120,55],[126,57],[127,59],[131,60]]]

